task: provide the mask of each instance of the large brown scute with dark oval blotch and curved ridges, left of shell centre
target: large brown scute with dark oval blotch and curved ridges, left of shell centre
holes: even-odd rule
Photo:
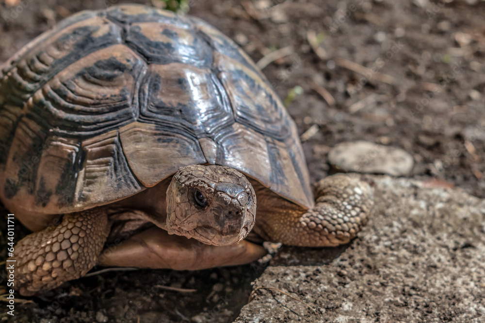
[[[36,92],[24,111],[67,137],[91,137],[131,122],[145,63],[114,45],[71,64]],[[135,104],[133,104],[135,102]]]

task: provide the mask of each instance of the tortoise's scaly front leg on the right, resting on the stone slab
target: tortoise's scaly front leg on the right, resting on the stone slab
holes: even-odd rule
[[[255,230],[265,239],[290,246],[338,246],[356,237],[374,204],[369,184],[343,174],[318,182],[315,197],[310,210],[274,201],[273,212],[266,209],[264,215],[256,215]]]

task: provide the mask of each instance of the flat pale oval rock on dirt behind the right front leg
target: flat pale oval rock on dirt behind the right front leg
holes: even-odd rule
[[[413,157],[402,149],[368,141],[344,142],[330,150],[328,161],[344,171],[407,175],[413,169]]]

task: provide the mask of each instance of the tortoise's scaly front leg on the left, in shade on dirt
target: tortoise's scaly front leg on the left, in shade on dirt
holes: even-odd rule
[[[103,208],[66,214],[60,225],[34,232],[15,246],[15,289],[22,295],[56,288],[85,275],[109,233]],[[12,263],[12,262],[10,262]]]

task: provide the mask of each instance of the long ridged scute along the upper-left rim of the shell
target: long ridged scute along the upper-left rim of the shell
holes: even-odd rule
[[[8,110],[0,115],[0,165],[6,162],[24,105],[33,93],[72,62],[121,42],[120,27],[84,12],[40,35],[0,67],[0,107]]]

